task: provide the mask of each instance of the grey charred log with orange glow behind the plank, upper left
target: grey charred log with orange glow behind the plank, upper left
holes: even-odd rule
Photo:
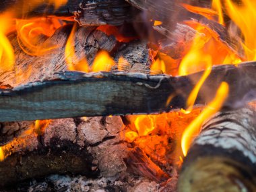
[[[71,28],[72,26],[69,25],[63,26],[49,38],[42,36],[42,42],[38,44],[38,49],[53,46],[57,46],[57,48],[44,53],[44,55],[39,55],[38,57],[28,55],[22,51],[18,44],[17,35],[11,34],[9,39],[15,53],[15,67],[13,71],[0,71],[1,85],[15,87],[19,84],[38,81],[44,75],[50,75],[55,71],[67,70],[65,44]],[[86,38],[84,38],[85,36]],[[113,50],[117,49],[118,44],[119,42],[117,42],[115,36],[107,36],[104,32],[96,30],[96,27],[78,28],[75,32],[74,43],[77,57],[76,61],[78,62],[80,59],[86,57],[88,63],[91,65],[98,51],[103,49],[111,53]],[[28,50],[28,53],[33,53],[33,51]]]

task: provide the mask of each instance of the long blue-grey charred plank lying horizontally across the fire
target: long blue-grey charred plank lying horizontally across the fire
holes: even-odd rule
[[[220,65],[203,84],[196,105],[210,102],[220,83],[230,86],[224,107],[238,108],[255,99],[256,64]],[[0,121],[162,113],[185,108],[203,71],[188,76],[143,73],[60,72],[0,92]],[[172,97],[169,103],[168,98]]]

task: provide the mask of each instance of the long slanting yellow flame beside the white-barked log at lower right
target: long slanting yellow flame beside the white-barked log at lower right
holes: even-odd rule
[[[203,109],[202,113],[200,113],[200,115],[196,119],[194,119],[191,124],[185,129],[181,137],[181,148],[183,150],[184,156],[187,156],[189,146],[191,145],[194,137],[198,135],[203,121],[205,121],[205,119],[208,119],[209,117],[214,115],[214,113],[218,112],[218,110],[220,110],[220,108],[224,104],[224,101],[228,97],[228,91],[228,84],[226,82],[222,82],[217,90],[214,100],[212,100],[212,102],[210,102],[210,104],[208,104]]]

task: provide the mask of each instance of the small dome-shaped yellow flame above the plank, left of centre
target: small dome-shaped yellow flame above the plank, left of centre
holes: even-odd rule
[[[110,71],[115,66],[115,61],[110,57],[108,52],[100,51],[92,64],[92,71]]]

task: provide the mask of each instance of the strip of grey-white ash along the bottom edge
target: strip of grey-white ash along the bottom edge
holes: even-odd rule
[[[83,176],[69,177],[67,175],[53,174],[46,177],[44,181],[32,181],[27,189],[20,188],[18,191],[39,192],[116,192],[116,191],[135,191],[153,192],[160,191],[160,185],[154,181],[142,177],[131,177],[126,174],[122,177],[87,179]]]

